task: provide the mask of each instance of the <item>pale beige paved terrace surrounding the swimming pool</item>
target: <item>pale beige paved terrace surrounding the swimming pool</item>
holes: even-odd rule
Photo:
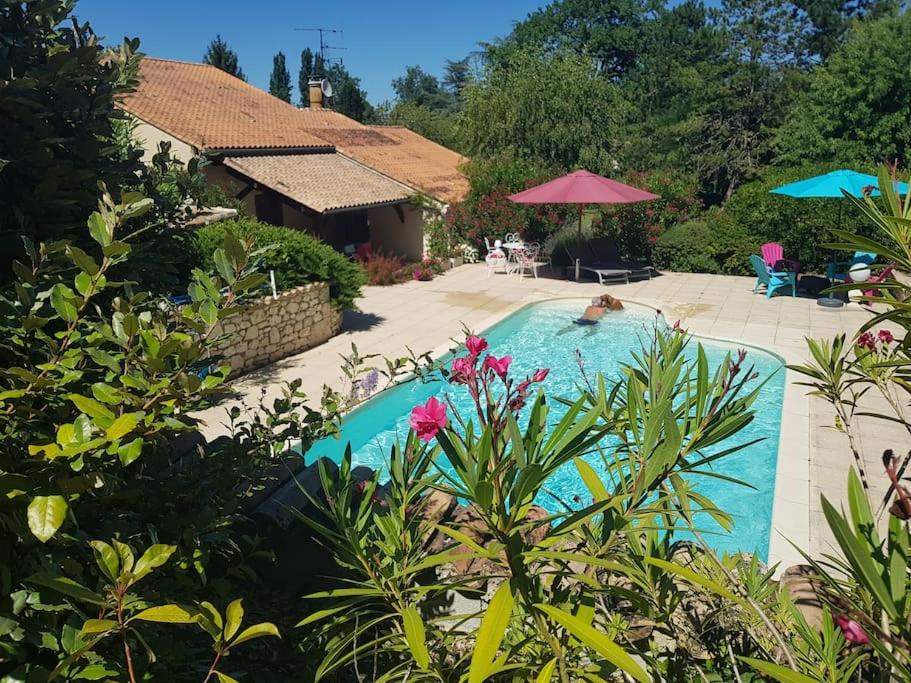
[[[463,325],[480,331],[526,303],[557,297],[591,298],[608,292],[630,302],[660,308],[669,322],[699,335],[750,344],[782,356],[788,363],[808,358],[804,338],[853,334],[868,319],[857,304],[824,309],[809,298],[753,294],[754,278],[668,273],[627,285],[599,286],[541,277],[519,280],[502,274],[487,277],[483,264],[465,265],[432,282],[367,287],[359,312],[346,315],[344,331],[327,343],[286,358],[235,382],[248,405],[261,390],[278,395],[281,382],[303,379],[308,395],[318,397],[323,384],[341,387],[341,354],[357,344],[361,354],[397,357],[406,346],[420,353],[442,353],[458,338]],[[832,428],[828,406],[806,397],[788,372],[782,415],[773,513],[771,561],[788,566],[801,561],[789,541],[812,553],[828,552],[832,541],[820,506],[820,494],[836,504],[845,499],[851,464],[847,438]],[[210,435],[224,431],[225,406],[206,411]],[[868,421],[860,439],[869,457],[867,472],[880,492],[887,481],[880,454],[887,447],[904,452],[906,434],[897,425]]]

